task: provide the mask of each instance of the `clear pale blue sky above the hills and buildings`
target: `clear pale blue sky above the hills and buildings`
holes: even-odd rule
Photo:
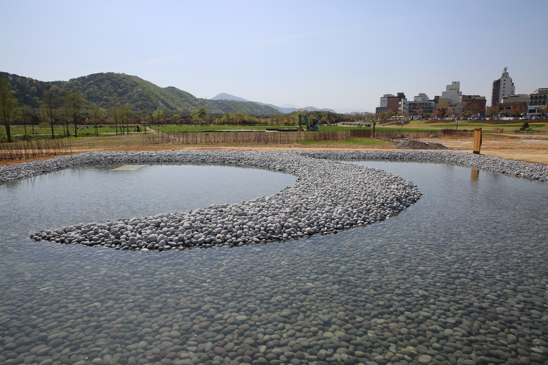
[[[0,71],[124,72],[199,98],[374,111],[382,94],[490,101],[548,87],[548,1],[0,0]]]

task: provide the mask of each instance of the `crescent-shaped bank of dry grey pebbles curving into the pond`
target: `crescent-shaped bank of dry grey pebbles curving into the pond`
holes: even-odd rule
[[[33,241],[116,249],[244,246],[337,233],[396,215],[421,195],[409,181],[383,170],[307,158],[293,152],[92,152],[47,161],[29,163],[19,173],[12,173],[17,176],[31,170],[45,172],[48,167],[51,170],[78,164],[179,162],[260,167],[297,177],[294,186],[248,202],[107,220],[105,224],[76,224],[30,235]]]

